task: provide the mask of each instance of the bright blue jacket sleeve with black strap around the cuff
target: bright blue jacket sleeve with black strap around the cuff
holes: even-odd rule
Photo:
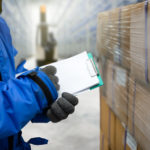
[[[38,76],[56,100],[58,95],[52,82],[41,71],[38,71]],[[0,82],[0,138],[18,133],[46,107],[47,99],[42,89],[26,75],[7,83]]]

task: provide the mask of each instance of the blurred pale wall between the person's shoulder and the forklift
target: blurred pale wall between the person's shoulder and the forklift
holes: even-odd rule
[[[34,53],[30,12],[27,1],[3,1],[2,16],[10,27],[13,44],[22,57],[29,57]]]

